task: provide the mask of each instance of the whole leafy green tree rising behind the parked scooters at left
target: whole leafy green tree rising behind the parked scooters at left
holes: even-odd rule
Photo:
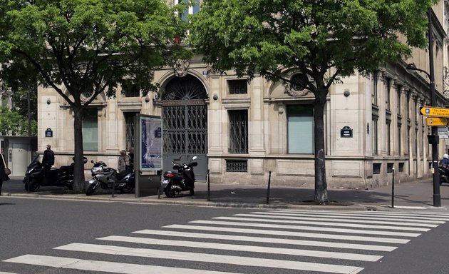
[[[183,6],[184,5],[184,6]],[[153,71],[190,55],[177,16],[185,4],[160,0],[0,0],[0,61],[38,72],[73,109],[75,189],[84,183],[83,111],[118,85],[156,91]]]

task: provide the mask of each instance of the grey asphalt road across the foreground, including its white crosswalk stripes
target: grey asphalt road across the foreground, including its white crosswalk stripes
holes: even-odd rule
[[[249,213],[254,214],[248,216]],[[429,213],[436,216],[425,215]],[[402,221],[393,221],[402,218]],[[423,227],[408,223],[416,218],[432,219],[431,222],[438,219],[439,223],[430,226],[425,223]],[[217,271],[316,274],[315,268],[321,271],[319,273],[337,273],[337,268],[342,268],[340,273],[362,274],[449,273],[446,263],[449,215],[422,210],[418,213],[289,212],[2,196],[0,220],[0,273],[161,271],[170,274],[189,273],[188,270],[193,269],[195,274]],[[377,226],[386,221],[388,225]],[[148,231],[148,234],[136,233],[138,231]],[[133,243],[98,240],[136,236],[139,240]],[[390,240],[399,242],[389,243]],[[69,268],[75,269],[36,265],[26,256],[76,258],[76,261],[64,263],[65,267],[71,265]],[[368,260],[359,260],[356,256],[365,256]],[[371,257],[376,261],[370,261]],[[11,259],[20,262],[13,263]],[[100,269],[94,271],[92,262],[107,263],[100,264]],[[142,267],[148,267],[151,272],[140,269]]]

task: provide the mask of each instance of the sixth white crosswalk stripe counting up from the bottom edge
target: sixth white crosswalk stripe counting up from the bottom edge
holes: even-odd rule
[[[398,237],[418,237],[420,233],[408,233],[408,232],[392,232],[383,230],[361,230],[361,229],[346,229],[346,228],[326,228],[319,226],[301,226],[301,225],[272,225],[267,223],[242,223],[242,222],[225,222],[217,220],[192,220],[189,223],[202,223],[209,225],[237,225],[237,226],[250,226],[253,228],[282,228],[292,230],[313,230],[320,232],[338,232],[338,233],[351,233],[351,234],[367,234],[367,235],[388,235]]]

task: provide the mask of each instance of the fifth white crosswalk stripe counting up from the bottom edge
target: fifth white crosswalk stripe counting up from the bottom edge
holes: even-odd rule
[[[381,238],[381,237],[351,236],[351,235],[322,234],[322,233],[303,233],[294,231],[262,230],[262,229],[249,229],[249,228],[221,228],[217,226],[201,226],[201,225],[166,225],[164,226],[164,228],[221,231],[221,232],[226,231],[233,233],[249,233],[249,234],[262,234],[262,235],[284,235],[289,237],[321,238],[332,240],[359,240],[363,242],[376,242],[376,243],[408,243],[410,241],[398,238]]]

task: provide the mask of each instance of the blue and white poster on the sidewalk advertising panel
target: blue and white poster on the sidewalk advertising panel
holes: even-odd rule
[[[139,116],[140,171],[162,170],[162,119],[158,116]]]

